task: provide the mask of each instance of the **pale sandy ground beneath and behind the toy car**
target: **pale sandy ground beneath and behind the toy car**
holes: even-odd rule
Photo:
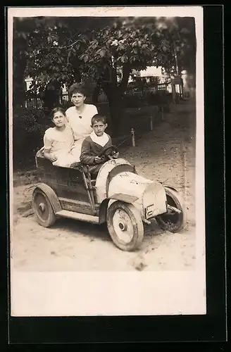
[[[195,114],[168,113],[137,146],[120,151],[139,175],[176,187],[187,208],[180,233],[163,232],[156,221],[145,225],[144,241],[135,252],[120,251],[104,225],[59,219],[51,228],[39,226],[30,208],[31,185],[13,189],[11,258],[20,271],[194,270]],[[189,109],[188,109],[189,110]]]

